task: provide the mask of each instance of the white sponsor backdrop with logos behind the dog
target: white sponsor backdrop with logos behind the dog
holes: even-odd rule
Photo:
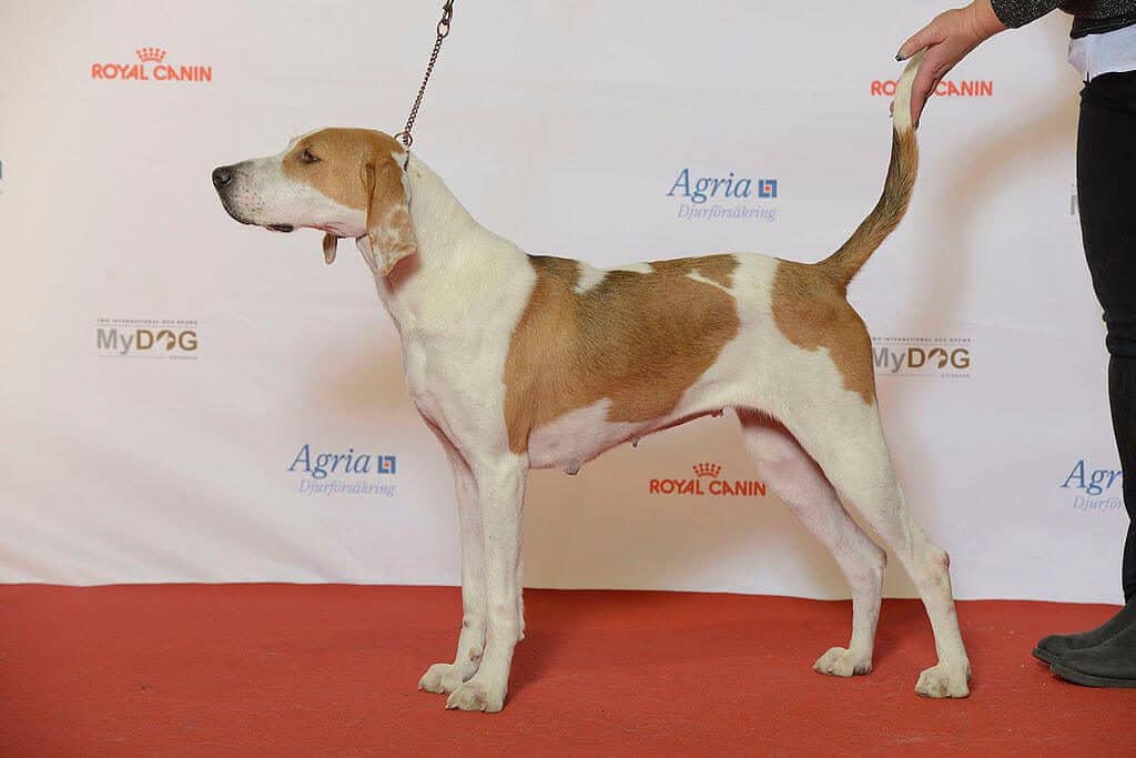
[[[0,581],[458,582],[448,468],[366,266],[344,245],[325,267],[316,232],[239,226],[209,184],[314,127],[398,131],[436,5],[0,7]],[[878,195],[880,83],[939,9],[458,0],[415,148],[533,252],[815,260]],[[1119,597],[1120,483],[1093,485],[1118,464],[1068,25],[952,73],[911,213],[851,292],[908,499],[961,598]],[[752,217],[682,217],[684,169],[752,178],[754,197],[702,206]],[[349,450],[368,473],[304,472],[304,453]],[[754,476],[729,415],[534,474],[526,584],[846,597],[771,494],[651,492],[710,489],[696,464]],[[887,591],[911,589],[893,563]]]

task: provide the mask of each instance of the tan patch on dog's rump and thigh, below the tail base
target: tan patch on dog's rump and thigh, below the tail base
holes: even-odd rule
[[[778,260],[772,285],[772,315],[778,331],[804,350],[827,348],[844,380],[867,405],[876,398],[871,338],[844,288],[824,268]]]

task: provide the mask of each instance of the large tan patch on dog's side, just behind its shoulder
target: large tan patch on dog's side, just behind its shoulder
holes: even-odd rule
[[[523,452],[533,430],[609,399],[610,422],[649,422],[673,411],[738,330],[729,286],[734,256],[651,264],[650,273],[610,270],[576,292],[580,264],[529,256],[536,284],[509,345],[504,417],[509,448]]]

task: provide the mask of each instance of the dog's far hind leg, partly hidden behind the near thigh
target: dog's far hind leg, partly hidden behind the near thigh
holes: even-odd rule
[[[832,648],[813,668],[836,676],[867,674],[871,670],[886,553],[852,520],[820,467],[784,426],[746,409],[738,409],[737,417],[759,476],[828,548],[852,588],[849,647]]]

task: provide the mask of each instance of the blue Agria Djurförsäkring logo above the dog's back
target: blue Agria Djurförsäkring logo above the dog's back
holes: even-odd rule
[[[777,180],[737,176],[700,176],[683,168],[667,192],[680,199],[678,218],[741,218],[759,222],[777,220]]]

